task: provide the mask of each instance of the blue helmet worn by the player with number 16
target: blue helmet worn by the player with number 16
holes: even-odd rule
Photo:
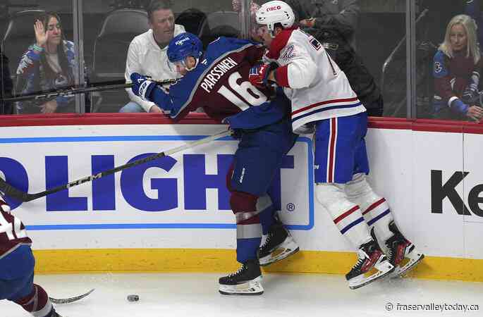
[[[196,65],[192,68],[187,68],[188,70],[192,70],[197,66],[202,54],[203,44],[201,40],[196,35],[189,32],[176,35],[176,37],[171,39],[171,42],[169,42],[168,45],[169,62],[175,65],[176,63],[182,63],[183,66],[185,66],[185,59],[188,56],[192,56],[196,59]]]

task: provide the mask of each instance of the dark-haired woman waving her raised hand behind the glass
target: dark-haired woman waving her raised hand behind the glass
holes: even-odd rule
[[[74,83],[74,44],[63,37],[61,19],[54,12],[42,13],[34,24],[35,44],[28,47],[17,68],[16,91],[32,94],[72,86]],[[39,104],[18,103],[18,112],[41,113],[73,111],[73,97],[56,97]]]

